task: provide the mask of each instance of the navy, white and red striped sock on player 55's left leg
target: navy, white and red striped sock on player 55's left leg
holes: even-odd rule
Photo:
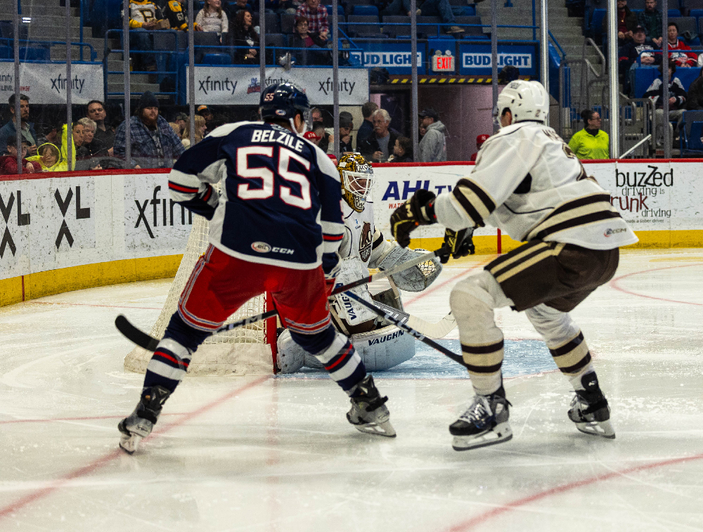
[[[146,367],[142,395],[157,384],[173,391],[186,375],[195,349],[209,334],[187,325],[176,312]]]

